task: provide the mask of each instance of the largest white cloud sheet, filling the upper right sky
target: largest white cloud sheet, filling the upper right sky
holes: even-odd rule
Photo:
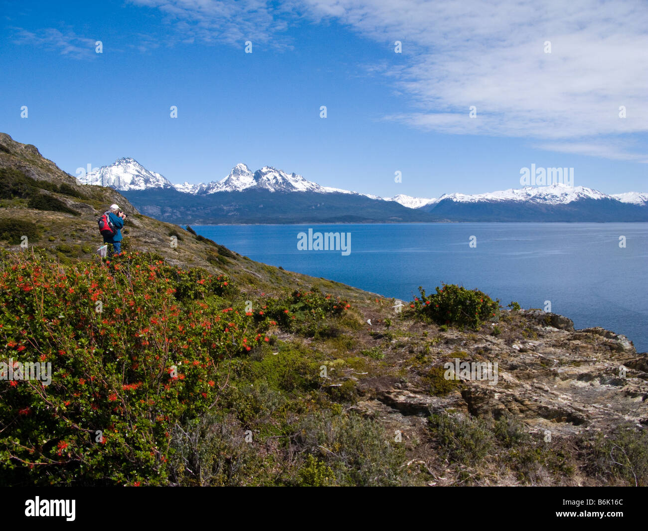
[[[306,0],[292,8],[312,21],[336,18],[386,47],[402,41],[401,64],[385,75],[412,110],[386,119],[449,134],[570,140],[545,145],[648,160],[618,144],[585,149],[601,145],[588,142],[594,135],[648,131],[643,1]]]

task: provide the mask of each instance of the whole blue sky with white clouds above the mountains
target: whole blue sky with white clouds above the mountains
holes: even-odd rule
[[[648,191],[645,0],[0,0],[0,72],[0,131],[71,175],[439,197],[535,164]]]

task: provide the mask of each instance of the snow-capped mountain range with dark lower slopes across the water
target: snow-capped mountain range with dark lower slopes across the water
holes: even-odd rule
[[[551,184],[438,198],[383,198],[321,186],[301,175],[237,164],[221,180],[173,184],[133,158],[79,179],[110,186],[149,216],[172,223],[394,223],[423,221],[648,221],[648,193],[607,195]]]

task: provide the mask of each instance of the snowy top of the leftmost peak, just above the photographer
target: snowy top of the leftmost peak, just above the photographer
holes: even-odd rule
[[[148,188],[173,188],[159,173],[148,171],[134,158],[120,158],[110,166],[102,166],[79,178],[82,184],[110,186],[115,190],[147,190]]]

